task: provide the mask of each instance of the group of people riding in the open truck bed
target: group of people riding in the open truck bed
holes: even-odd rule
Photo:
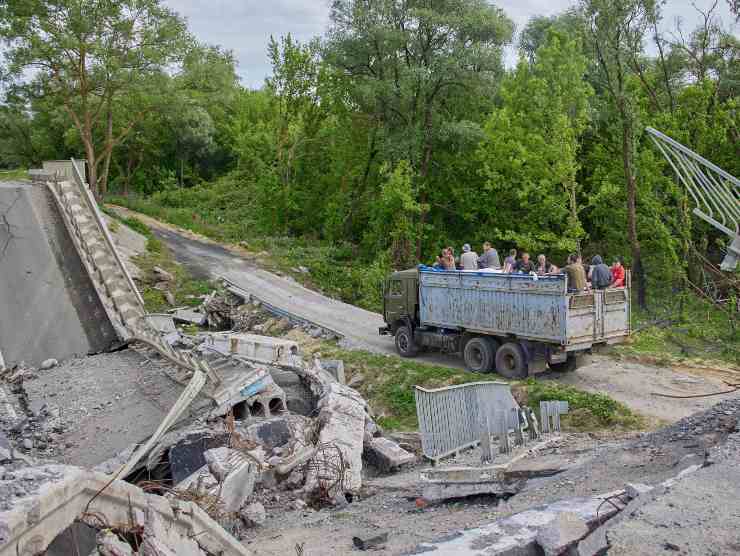
[[[572,292],[586,289],[603,290],[606,288],[621,288],[625,285],[625,270],[622,260],[615,257],[612,266],[604,263],[600,255],[594,255],[590,264],[584,264],[581,256],[575,253],[568,255],[568,262],[562,268],[552,264],[544,254],[538,255],[537,260],[530,259],[529,253],[522,251],[517,257],[517,250],[511,249],[504,259],[503,265],[490,242],[483,244],[483,254],[478,255],[469,244],[463,245],[460,257],[455,257],[452,247],[445,247],[434,263],[434,268],[440,270],[485,270],[508,274],[534,274],[547,276],[551,274],[565,274],[568,276],[568,290]]]

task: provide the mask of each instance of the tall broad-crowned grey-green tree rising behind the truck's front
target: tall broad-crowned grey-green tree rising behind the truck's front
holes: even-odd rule
[[[490,95],[502,74],[513,25],[486,0],[335,0],[326,57],[348,77],[350,102],[377,122],[376,148],[395,166],[407,160],[420,211],[416,256],[429,212],[429,178],[454,97]]]

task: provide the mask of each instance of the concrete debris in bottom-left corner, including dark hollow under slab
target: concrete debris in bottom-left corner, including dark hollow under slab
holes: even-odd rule
[[[6,468],[0,555],[250,554],[198,505],[62,465]]]

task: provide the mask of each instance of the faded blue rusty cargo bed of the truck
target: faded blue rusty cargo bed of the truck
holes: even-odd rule
[[[423,326],[584,349],[629,335],[629,290],[568,293],[566,276],[419,271]]]

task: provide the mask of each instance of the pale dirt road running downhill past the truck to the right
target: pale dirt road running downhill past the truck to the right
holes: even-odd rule
[[[258,268],[236,249],[220,245],[192,232],[164,224],[142,214],[116,207],[120,214],[135,216],[173,252],[175,259],[200,278],[223,276],[260,299],[345,337],[349,348],[395,355],[393,339],[379,336],[383,319],[347,303],[311,291],[292,279]],[[437,365],[462,368],[460,358],[428,353],[420,360]],[[590,392],[604,392],[632,409],[650,417],[654,423],[676,421],[700,409],[711,407],[723,398],[739,393],[706,398],[673,399],[656,393],[693,395],[719,392],[727,386],[716,377],[677,373],[670,368],[615,361],[595,356],[574,373],[546,373],[541,378],[557,379]]]

